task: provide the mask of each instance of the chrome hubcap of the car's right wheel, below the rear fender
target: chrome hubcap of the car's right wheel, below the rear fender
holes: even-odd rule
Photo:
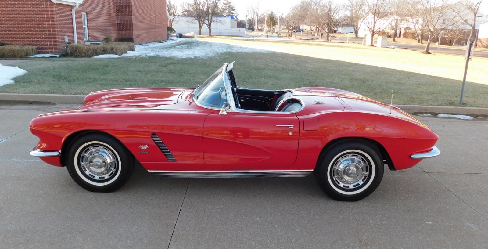
[[[332,164],[332,179],[342,188],[361,187],[369,175],[369,165],[359,154],[346,154]]]

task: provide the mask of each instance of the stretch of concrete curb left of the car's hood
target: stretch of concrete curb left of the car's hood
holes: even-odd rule
[[[85,95],[69,94],[30,94],[30,93],[0,93],[0,101],[18,101],[27,103],[53,104],[83,104]]]

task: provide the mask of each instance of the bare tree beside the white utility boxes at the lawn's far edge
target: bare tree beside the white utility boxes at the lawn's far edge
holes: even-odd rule
[[[384,21],[389,16],[388,4],[388,0],[366,0],[366,17],[363,23],[371,34],[370,46],[374,46],[374,36],[390,26],[385,23],[379,25],[380,20]]]

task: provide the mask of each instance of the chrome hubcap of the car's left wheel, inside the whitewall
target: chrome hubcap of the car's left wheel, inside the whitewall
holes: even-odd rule
[[[80,166],[86,176],[94,180],[106,180],[117,171],[117,160],[110,149],[92,145],[81,153]]]

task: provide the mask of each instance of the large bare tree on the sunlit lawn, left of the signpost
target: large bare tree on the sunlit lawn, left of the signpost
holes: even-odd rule
[[[430,54],[430,42],[444,34],[446,30],[452,29],[457,21],[454,16],[449,15],[451,6],[450,0],[416,0],[407,1],[408,10],[411,16],[422,20],[422,31],[428,35],[424,54]]]

